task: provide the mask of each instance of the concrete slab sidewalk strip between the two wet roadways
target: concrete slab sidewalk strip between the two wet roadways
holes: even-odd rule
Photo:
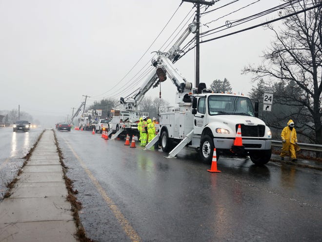
[[[18,179],[0,202],[0,242],[78,241],[53,130],[42,134]]]

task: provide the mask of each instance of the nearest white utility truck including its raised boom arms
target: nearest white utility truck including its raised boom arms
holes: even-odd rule
[[[187,34],[190,32],[193,26]],[[169,152],[167,158],[175,158],[187,147],[199,152],[203,162],[211,163],[216,148],[217,158],[221,154],[249,156],[255,164],[266,164],[271,158],[272,135],[270,128],[258,118],[259,102],[253,101],[253,106],[252,100],[243,95],[213,93],[204,83],[193,88],[172,63],[182,41],[181,38],[167,53],[157,52],[157,59],[152,61],[155,71],[139,92],[126,101],[131,107],[138,106],[151,87],[168,79],[177,88],[176,103],[180,109],[160,114],[159,137],[150,141],[146,149],[159,139],[162,150]],[[239,127],[242,143],[236,144]]]

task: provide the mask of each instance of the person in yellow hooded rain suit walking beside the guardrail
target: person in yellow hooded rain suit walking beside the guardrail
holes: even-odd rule
[[[298,146],[298,138],[296,135],[296,130],[294,128],[293,120],[289,120],[287,122],[287,126],[283,128],[281,133],[282,138],[282,152],[281,159],[284,161],[284,156],[291,154],[292,161],[297,161],[296,159],[296,151],[300,150]]]

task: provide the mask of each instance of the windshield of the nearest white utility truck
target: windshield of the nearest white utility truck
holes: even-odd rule
[[[209,115],[247,115],[254,117],[252,102],[246,97],[212,95],[208,97]]]

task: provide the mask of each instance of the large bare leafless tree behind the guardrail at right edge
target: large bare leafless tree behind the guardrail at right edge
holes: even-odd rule
[[[294,1],[285,15],[317,6],[283,20],[276,30],[276,40],[264,52],[263,63],[248,66],[244,73],[255,74],[254,80],[266,78],[267,83],[279,82],[282,91],[275,97],[282,105],[294,109],[293,114],[305,121],[305,128],[313,134],[310,139],[322,144],[321,92],[322,92],[322,7],[321,0]],[[299,108],[302,110],[298,113]]]

